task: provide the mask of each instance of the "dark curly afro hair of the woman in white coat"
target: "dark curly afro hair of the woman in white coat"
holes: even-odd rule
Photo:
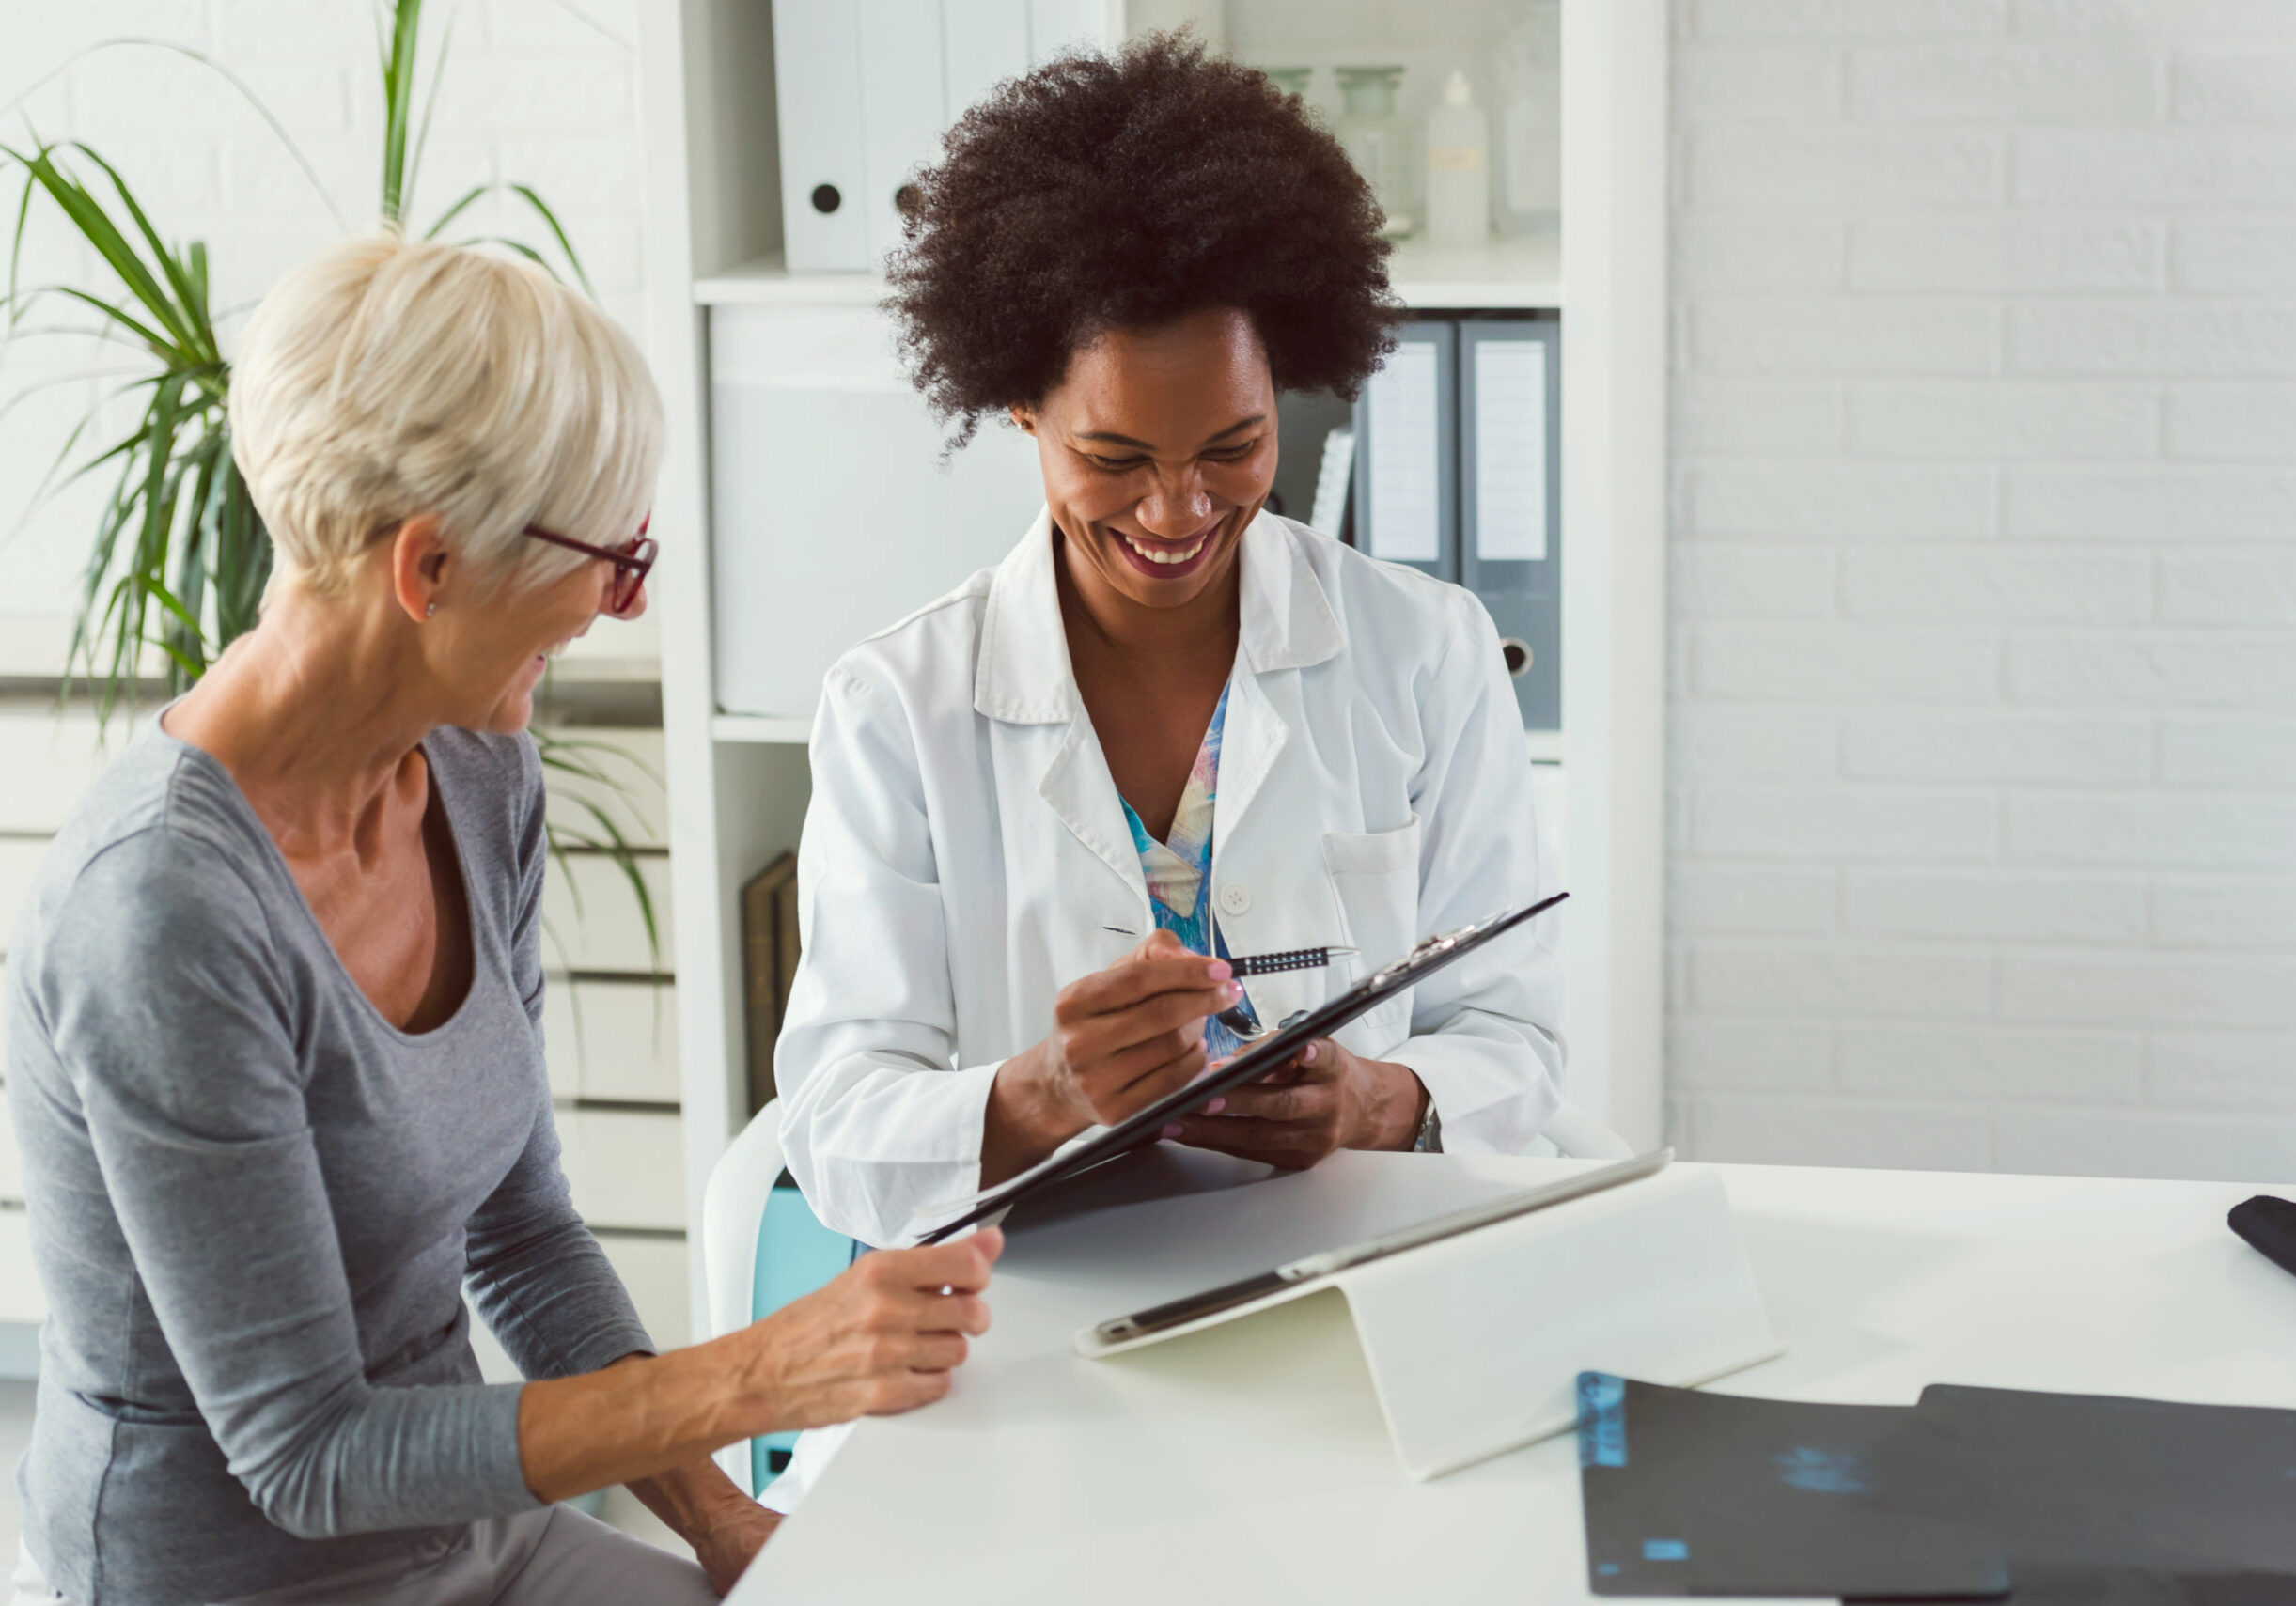
[[[1240,307],[1279,390],[1348,399],[1394,349],[1371,188],[1295,96],[1189,34],[999,85],[905,200],[886,307],[951,445],[1104,328]]]

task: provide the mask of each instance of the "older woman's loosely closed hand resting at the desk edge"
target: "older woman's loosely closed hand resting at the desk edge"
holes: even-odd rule
[[[829,1427],[914,1411],[948,1393],[969,1340],[990,1331],[983,1292],[1003,1253],[987,1227],[932,1248],[863,1255],[833,1283],[746,1328],[744,1388],[762,1427]]]

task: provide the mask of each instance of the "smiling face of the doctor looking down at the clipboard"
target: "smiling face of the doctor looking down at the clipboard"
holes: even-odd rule
[[[1162,610],[1226,592],[1277,475],[1274,379],[1244,312],[1102,330],[1013,422],[1035,436],[1068,578],[1088,606]]]

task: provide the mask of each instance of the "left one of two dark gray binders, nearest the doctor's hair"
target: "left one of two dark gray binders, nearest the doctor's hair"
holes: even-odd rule
[[[1419,319],[1355,404],[1355,544],[1458,578],[1458,326]]]

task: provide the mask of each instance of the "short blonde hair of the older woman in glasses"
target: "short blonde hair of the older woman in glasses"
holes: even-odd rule
[[[344,585],[416,514],[503,580],[588,562],[652,507],[661,397],[613,319],[528,262],[370,234],[264,296],[232,369],[232,457],[292,578]]]

